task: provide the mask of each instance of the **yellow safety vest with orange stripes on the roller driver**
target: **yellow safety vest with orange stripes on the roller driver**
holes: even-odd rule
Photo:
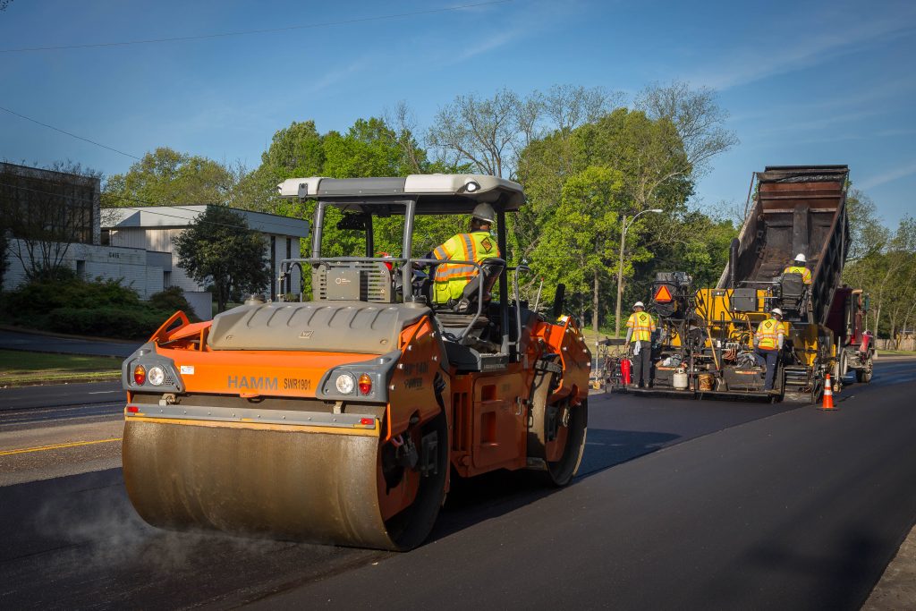
[[[470,234],[453,235],[444,244],[432,251],[440,261],[474,261],[480,263],[492,256],[499,256],[496,239],[489,232],[475,231]],[[477,268],[463,263],[440,263],[432,277],[432,300],[447,303],[461,299],[464,287],[477,276]]]

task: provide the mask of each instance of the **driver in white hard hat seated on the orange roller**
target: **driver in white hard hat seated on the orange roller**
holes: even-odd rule
[[[496,211],[488,203],[478,203],[471,216],[470,232],[450,237],[442,245],[433,249],[431,256],[440,261],[474,261],[500,256],[496,238],[490,235],[490,229],[496,222]],[[463,263],[440,263],[432,276],[432,302],[448,303],[460,300],[464,287],[477,277],[477,268]],[[481,299],[488,300],[489,295]]]

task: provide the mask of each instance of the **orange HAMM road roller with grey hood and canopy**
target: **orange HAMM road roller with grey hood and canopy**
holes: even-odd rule
[[[521,187],[437,174],[278,190],[314,201],[311,256],[277,270],[311,278],[311,296],[250,300],[212,322],[176,312],[125,360],[124,479],[137,513],[165,529],[406,551],[430,533],[452,478],[528,470],[569,484],[591,354],[562,298],[550,315],[530,310],[518,297],[527,268],[492,257],[450,261],[475,278],[461,299],[433,303],[418,267],[439,261],[415,252],[420,215],[486,202],[505,256]],[[324,254],[333,208],[363,256]],[[401,252],[379,256],[373,221],[392,217]]]

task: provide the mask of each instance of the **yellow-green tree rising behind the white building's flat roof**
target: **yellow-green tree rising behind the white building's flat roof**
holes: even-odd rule
[[[159,147],[114,174],[102,191],[103,207],[182,205],[230,201],[238,173],[204,157]]]

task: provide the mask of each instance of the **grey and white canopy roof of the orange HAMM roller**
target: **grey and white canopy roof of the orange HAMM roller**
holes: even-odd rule
[[[416,200],[419,214],[471,213],[478,203],[515,212],[525,203],[521,185],[485,174],[411,174],[408,177],[328,179],[311,177],[284,180],[277,185],[281,197],[317,199],[344,210],[364,210],[365,204],[391,204]],[[389,205],[388,213],[403,213]]]

